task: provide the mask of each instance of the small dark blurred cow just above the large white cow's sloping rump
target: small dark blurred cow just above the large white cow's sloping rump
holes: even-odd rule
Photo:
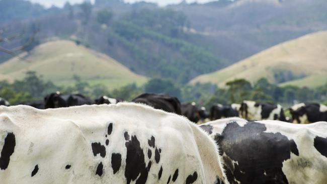
[[[184,103],[181,105],[182,115],[187,117],[193,123],[204,121],[209,117],[205,107],[198,108],[195,102]]]

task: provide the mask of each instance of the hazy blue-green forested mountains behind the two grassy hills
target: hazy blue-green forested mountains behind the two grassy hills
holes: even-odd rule
[[[50,9],[23,0],[0,2],[2,37],[28,37],[33,25],[39,25],[33,45],[75,36],[139,75],[180,84],[282,42],[327,30],[325,0],[219,0],[167,7],[99,0]],[[17,48],[24,37],[1,46]],[[9,57],[0,52],[0,62]]]

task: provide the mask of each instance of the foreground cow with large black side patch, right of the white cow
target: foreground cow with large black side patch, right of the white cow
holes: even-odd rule
[[[327,122],[228,118],[200,127],[220,146],[231,184],[327,182]]]

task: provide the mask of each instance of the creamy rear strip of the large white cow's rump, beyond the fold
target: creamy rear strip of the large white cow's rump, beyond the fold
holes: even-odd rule
[[[224,183],[228,184],[218,145],[198,126],[192,124],[191,127],[203,164],[206,183],[215,183],[218,177],[219,180],[223,180]]]

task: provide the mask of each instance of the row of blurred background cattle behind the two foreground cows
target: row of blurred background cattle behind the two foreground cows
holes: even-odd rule
[[[83,95],[62,95],[59,92],[44,98],[44,102],[25,104],[37,109],[62,108],[92,104],[117,104],[122,99],[102,96],[95,101]],[[241,104],[221,105],[216,104],[207,112],[204,107],[193,103],[181,104],[178,98],[163,94],[141,94],[131,102],[142,103],[161,109],[166,112],[176,113],[187,117],[194,123],[218,120],[221,118],[240,117],[247,120],[280,120],[298,124],[308,124],[318,121],[327,121],[327,106],[316,103],[296,104],[289,109],[292,118],[285,117],[283,107],[279,104],[256,103],[243,101]],[[9,106],[9,103],[0,98],[0,105]]]

